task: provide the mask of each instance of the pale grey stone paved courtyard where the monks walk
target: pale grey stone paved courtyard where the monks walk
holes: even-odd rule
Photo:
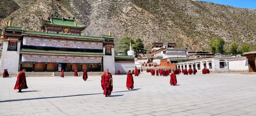
[[[134,90],[126,75],[113,79],[105,97],[100,76],[27,77],[22,93],[13,90],[16,77],[0,78],[0,116],[256,116],[256,75],[177,75],[170,86],[170,77],[144,72]]]

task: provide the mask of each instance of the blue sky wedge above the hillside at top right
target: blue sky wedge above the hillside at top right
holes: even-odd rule
[[[217,4],[234,6],[237,8],[256,9],[256,0],[199,0],[199,1],[213,2]]]

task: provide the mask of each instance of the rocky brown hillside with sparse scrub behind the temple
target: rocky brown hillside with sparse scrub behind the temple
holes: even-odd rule
[[[2,1],[2,0],[1,0]],[[0,8],[0,28],[7,25],[37,30],[41,19],[51,14],[75,17],[87,24],[84,35],[101,36],[112,31],[123,36],[142,38],[147,47],[152,42],[174,41],[190,50],[208,49],[213,38],[256,43],[256,10],[234,8],[192,0],[4,0]],[[16,4],[19,6],[17,7]],[[18,9],[17,9],[18,8]],[[8,10],[12,9],[12,10]],[[228,47],[228,46],[227,46]]]

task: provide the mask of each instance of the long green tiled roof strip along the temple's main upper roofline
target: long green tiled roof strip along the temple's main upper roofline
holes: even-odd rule
[[[46,35],[46,36],[57,36],[57,37],[70,37],[70,38],[79,38],[79,39],[105,40],[102,37],[92,37],[92,36],[82,36],[82,35],[67,35],[67,34],[59,34],[59,33],[45,33],[45,32],[36,32],[36,31],[25,31],[24,34]]]

